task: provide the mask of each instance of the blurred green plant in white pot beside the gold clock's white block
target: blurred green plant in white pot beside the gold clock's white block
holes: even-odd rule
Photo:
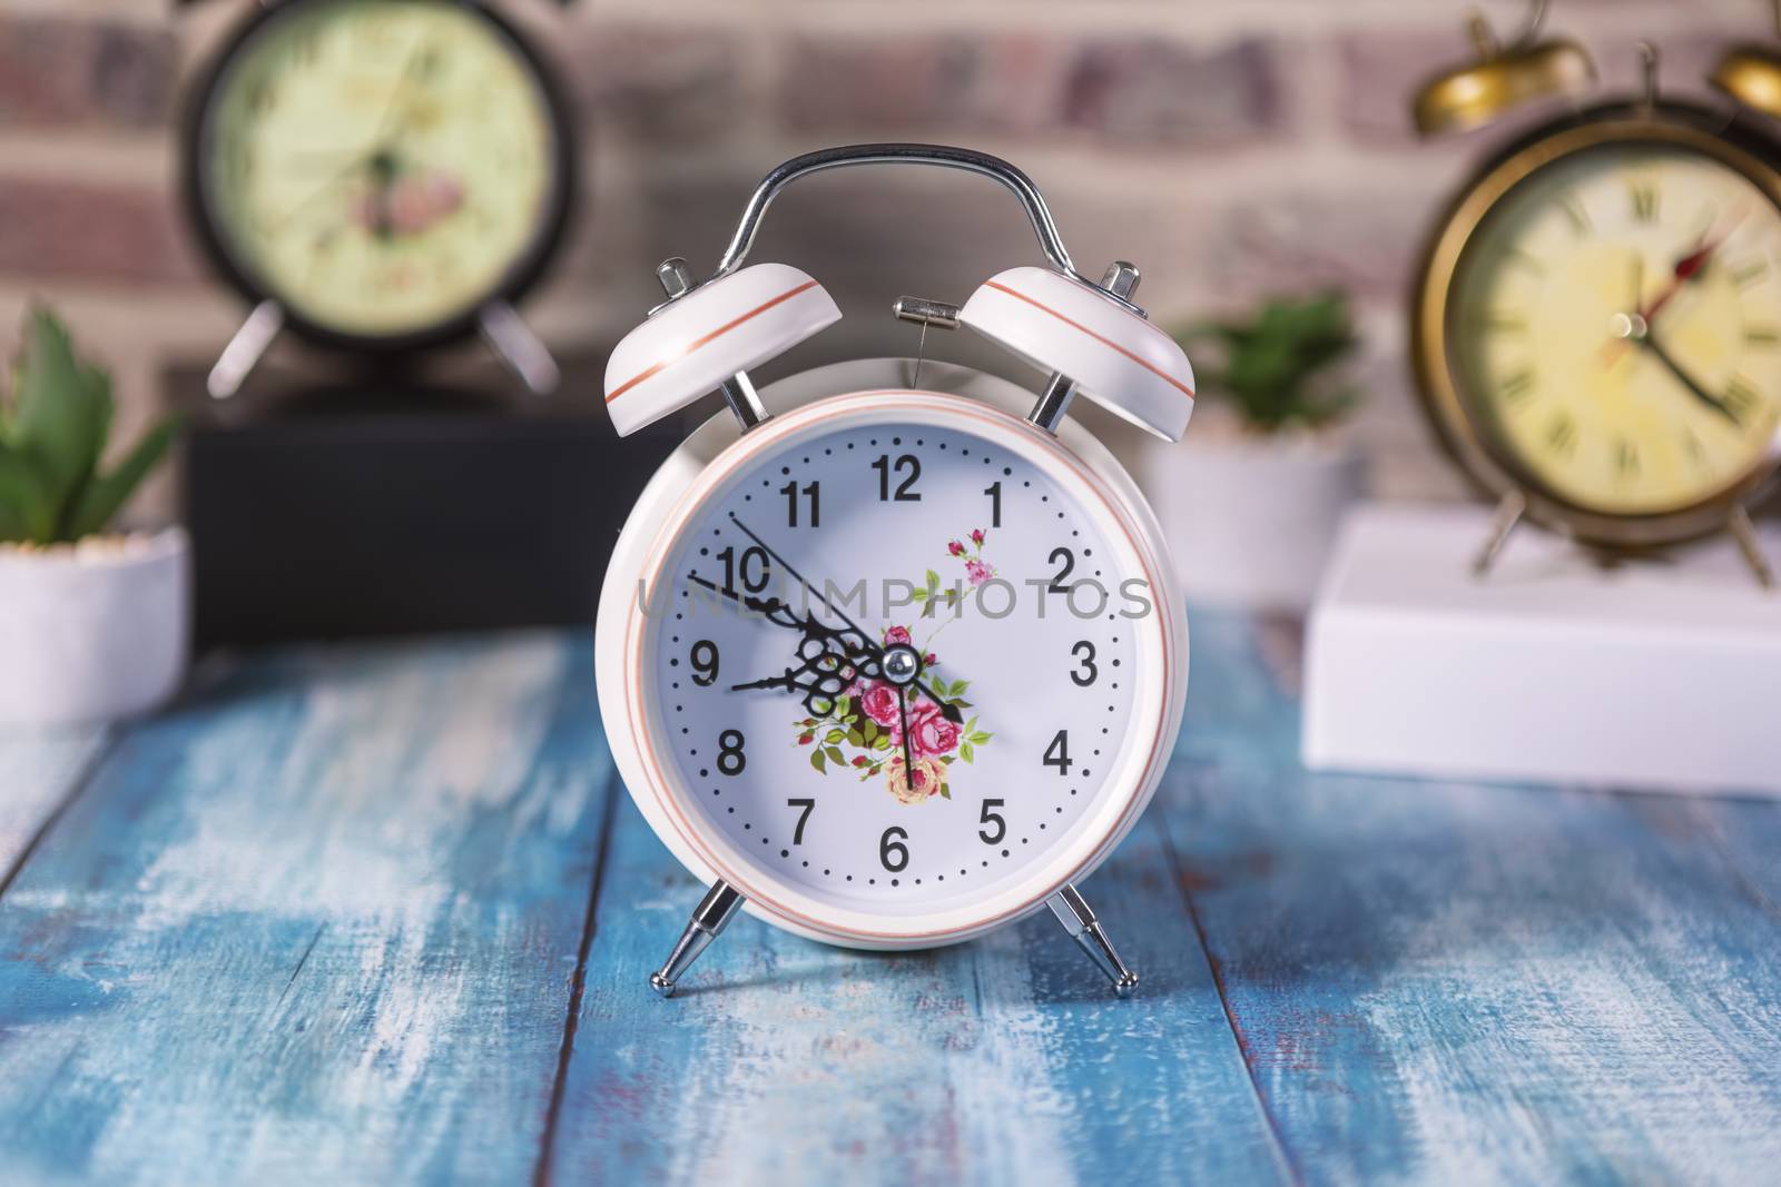
[[[1348,299],[1273,297],[1175,336],[1206,406],[1183,445],[1145,450],[1140,473],[1183,585],[1202,603],[1302,610],[1364,482],[1338,431],[1357,402],[1339,374],[1357,345]]]

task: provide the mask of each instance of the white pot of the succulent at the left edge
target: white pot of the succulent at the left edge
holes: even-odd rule
[[[0,546],[0,724],[73,724],[162,705],[191,651],[183,529]]]

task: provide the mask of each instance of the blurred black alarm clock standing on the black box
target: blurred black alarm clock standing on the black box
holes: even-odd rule
[[[182,142],[199,242],[253,304],[210,393],[232,395],[285,327],[363,354],[481,333],[554,388],[515,303],[563,240],[573,139],[541,55],[481,4],[255,5]]]

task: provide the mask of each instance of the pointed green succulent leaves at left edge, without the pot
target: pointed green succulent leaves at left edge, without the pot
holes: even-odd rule
[[[0,399],[0,541],[71,543],[110,523],[176,429],[164,420],[100,472],[110,422],[110,375],[75,354],[53,313],[27,313],[11,399]]]

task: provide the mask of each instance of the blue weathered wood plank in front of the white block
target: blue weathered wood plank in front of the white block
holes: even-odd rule
[[[1195,619],[1163,803],[1298,1176],[1772,1180],[1781,804],[1307,776],[1263,655]]]

